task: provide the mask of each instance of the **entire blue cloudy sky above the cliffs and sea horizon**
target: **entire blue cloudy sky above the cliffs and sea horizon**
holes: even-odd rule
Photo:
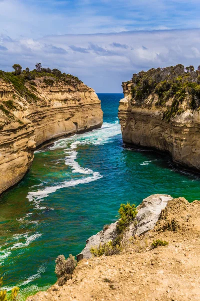
[[[0,0],[0,69],[57,68],[97,93],[133,73],[200,65],[199,0]]]

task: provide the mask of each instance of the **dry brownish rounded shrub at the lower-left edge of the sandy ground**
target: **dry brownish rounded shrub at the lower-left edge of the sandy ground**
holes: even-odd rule
[[[72,277],[71,275],[76,267],[77,261],[75,257],[70,254],[67,259],[65,259],[64,255],[59,255],[55,263],[55,274],[58,278],[57,283],[61,286]]]

